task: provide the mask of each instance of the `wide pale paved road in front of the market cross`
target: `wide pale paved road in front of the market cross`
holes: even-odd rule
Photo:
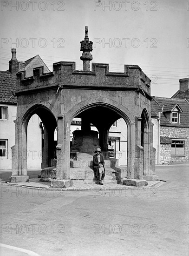
[[[187,256],[188,165],[159,166],[156,174],[167,181],[157,190],[127,193],[1,185],[1,243],[41,256]]]

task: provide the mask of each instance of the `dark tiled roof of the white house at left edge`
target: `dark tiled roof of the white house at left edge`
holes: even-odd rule
[[[6,71],[0,71],[0,103],[16,104],[16,96],[13,95],[15,91],[16,75]]]

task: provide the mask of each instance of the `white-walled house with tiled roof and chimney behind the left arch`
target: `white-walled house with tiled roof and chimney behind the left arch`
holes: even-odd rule
[[[12,150],[15,144],[15,123],[17,112],[17,100],[15,91],[16,73],[26,71],[26,77],[30,76],[34,67],[44,67],[44,72],[50,72],[39,55],[23,62],[17,61],[16,49],[12,49],[12,59],[9,61],[9,70],[0,71],[0,169],[12,168]],[[28,123],[28,168],[41,167],[41,120],[33,115]],[[32,134],[35,134],[33,136]]]

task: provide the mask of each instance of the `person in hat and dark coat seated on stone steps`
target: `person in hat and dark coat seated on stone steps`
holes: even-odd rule
[[[103,185],[102,180],[104,179],[105,176],[105,168],[104,168],[104,158],[101,153],[101,149],[97,148],[95,150],[96,155],[93,156],[93,170],[94,170],[94,175],[95,177],[99,180],[98,184]]]

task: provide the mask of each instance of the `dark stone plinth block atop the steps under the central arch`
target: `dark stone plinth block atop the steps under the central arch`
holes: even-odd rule
[[[73,132],[71,152],[94,152],[98,145],[99,139],[97,131],[86,132],[76,130]]]

